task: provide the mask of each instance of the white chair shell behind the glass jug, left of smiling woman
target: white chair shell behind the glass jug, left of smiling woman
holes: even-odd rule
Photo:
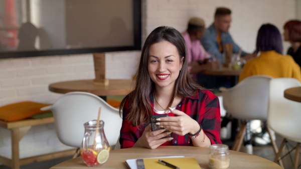
[[[60,141],[66,145],[80,147],[85,130],[83,124],[97,119],[100,106],[100,119],[104,121],[104,133],[110,146],[115,145],[122,123],[119,110],[99,96],[88,92],[66,93],[52,105],[51,111]]]

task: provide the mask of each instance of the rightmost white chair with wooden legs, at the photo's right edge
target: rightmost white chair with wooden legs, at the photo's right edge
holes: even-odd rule
[[[284,90],[301,86],[295,78],[274,78],[270,80],[267,124],[284,137],[274,162],[277,162],[286,139],[297,142],[294,168],[297,168],[301,142],[301,103],[284,98]]]

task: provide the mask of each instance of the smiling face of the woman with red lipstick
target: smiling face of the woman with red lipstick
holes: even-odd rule
[[[183,65],[177,47],[169,41],[160,41],[149,47],[148,73],[157,87],[173,89]]]

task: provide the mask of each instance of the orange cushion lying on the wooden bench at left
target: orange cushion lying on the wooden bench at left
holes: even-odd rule
[[[40,110],[41,107],[51,105],[43,104],[33,101],[22,101],[13,104],[8,104],[0,107],[0,119],[4,121],[18,121],[41,112],[47,112]]]

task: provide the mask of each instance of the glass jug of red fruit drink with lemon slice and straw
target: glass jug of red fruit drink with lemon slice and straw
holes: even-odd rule
[[[104,122],[92,120],[84,123],[85,134],[80,154],[87,166],[101,166],[109,157],[109,143],[103,131]]]

